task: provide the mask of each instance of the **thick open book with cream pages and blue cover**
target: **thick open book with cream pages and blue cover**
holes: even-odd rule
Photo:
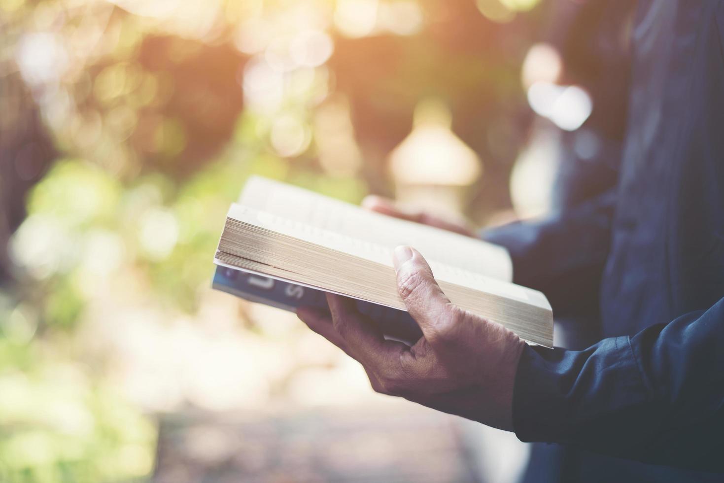
[[[252,177],[229,210],[214,288],[292,311],[326,307],[324,292],[346,295],[386,334],[414,340],[419,328],[397,293],[392,266],[397,245],[420,251],[455,305],[552,347],[550,304],[510,283],[504,248],[262,177]]]

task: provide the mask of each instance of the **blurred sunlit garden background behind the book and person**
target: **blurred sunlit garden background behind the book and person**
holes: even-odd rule
[[[553,3],[0,0],[0,480],[515,481],[513,434],[210,280],[252,174],[549,211],[565,136],[598,146]]]

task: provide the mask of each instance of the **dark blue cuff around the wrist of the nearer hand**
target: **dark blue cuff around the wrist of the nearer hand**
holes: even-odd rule
[[[628,337],[580,351],[526,345],[515,374],[513,429],[525,442],[583,442],[606,433],[612,412],[643,397]]]

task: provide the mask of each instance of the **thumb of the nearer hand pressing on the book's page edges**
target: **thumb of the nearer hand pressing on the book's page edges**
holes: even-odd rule
[[[454,316],[450,299],[442,293],[420,252],[408,246],[395,248],[397,290],[405,307],[432,343]]]

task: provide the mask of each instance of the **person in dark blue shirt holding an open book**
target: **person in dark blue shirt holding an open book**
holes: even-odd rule
[[[408,247],[395,267],[424,334],[413,347],[384,340],[338,296],[331,317],[300,318],[360,361],[380,392],[524,441],[724,471],[723,38],[724,2],[639,1],[615,197],[485,235],[508,248],[515,282],[542,290],[555,311],[597,277],[607,338],[585,350],[531,348],[452,306]]]

